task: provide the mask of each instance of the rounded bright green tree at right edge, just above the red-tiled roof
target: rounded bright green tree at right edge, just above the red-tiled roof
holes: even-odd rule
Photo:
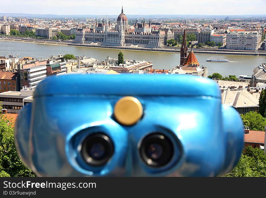
[[[266,118],[263,118],[259,113],[251,111],[245,114],[240,114],[243,122],[249,122],[250,130],[264,131],[266,126]]]

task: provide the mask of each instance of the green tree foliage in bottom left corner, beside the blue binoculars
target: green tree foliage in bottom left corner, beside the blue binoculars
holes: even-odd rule
[[[7,119],[0,115],[0,176],[1,177],[34,177],[18,156],[14,129]]]

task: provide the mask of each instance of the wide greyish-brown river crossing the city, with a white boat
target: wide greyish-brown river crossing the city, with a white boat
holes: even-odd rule
[[[30,56],[34,58],[49,58],[51,55],[73,54],[75,56],[83,56],[96,58],[103,61],[106,56],[117,58],[118,53],[122,51],[124,59],[152,61],[154,69],[172,69],[180,63],[180,53],[173,52],[150,52],[136,50],[119,50],[104,48],[89,48],[76,46],[55,46],[47,44],[23,43],[0,41],[0,56],[8,56],[13,53],[19,54],[19,58]],[[241,55],[209,55],[196,54],[200,65],[208,68],[208,75],[215,72],[222,76],[235,75],[251,75],[251,69],[261,63],[266,63],[266,56],[241,56]],[[230,62],[207,62],[208,58],[225,58]]]

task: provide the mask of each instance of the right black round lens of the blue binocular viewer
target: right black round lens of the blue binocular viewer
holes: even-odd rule
[[[172,159],[173,154],[173,144],[163,134],[150,134],[141,142],[141,158],[150,166],[160,167],[166,165]]]

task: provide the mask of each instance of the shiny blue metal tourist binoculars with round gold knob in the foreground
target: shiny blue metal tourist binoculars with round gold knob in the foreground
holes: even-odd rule
[[[222,176],[243,124],[210,79],[61,75],[37,85],[15,142],[38,176]]]

